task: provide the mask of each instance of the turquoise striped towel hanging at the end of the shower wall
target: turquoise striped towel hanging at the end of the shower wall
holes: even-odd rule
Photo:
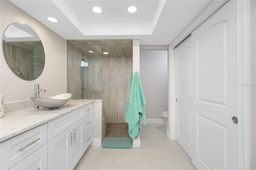
[[[138,137],[140,134],[140,117],[142,117],[142,122],[144,125],[146,125],[145,105],[146,99],[140,82],[140,75],[136,71],[132,79],[130,102],[125,117],[125,121],[128,123],[129,135],[131,138]]]

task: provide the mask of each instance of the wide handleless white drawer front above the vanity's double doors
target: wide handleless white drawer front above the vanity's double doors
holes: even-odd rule
[[[52,140],[67,128],[74,125],[76,122],[80,121],[85,117],[85,109],[81,107],[76,109],[66,115],[62,115],[52,121],[48,122],[48,141]]]

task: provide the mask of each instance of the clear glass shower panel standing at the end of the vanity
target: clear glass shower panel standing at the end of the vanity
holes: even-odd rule
[[[102,99],[102,41],[67,42],[67,92],[72,99]]]

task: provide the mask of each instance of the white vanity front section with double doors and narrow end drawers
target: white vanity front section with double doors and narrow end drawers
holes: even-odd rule
[[[89,131],[92,134],[91,125],[92,104],[48,122],[48,170],[70,170],[76,166],[92,141],[84,135]]]

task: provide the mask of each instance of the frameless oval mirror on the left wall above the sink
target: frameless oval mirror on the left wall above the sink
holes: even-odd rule
[[[4,32],[3,51],[12,72],[24,80],[38,78],[44,69],[43,44],[27,24],[16,22]]]

